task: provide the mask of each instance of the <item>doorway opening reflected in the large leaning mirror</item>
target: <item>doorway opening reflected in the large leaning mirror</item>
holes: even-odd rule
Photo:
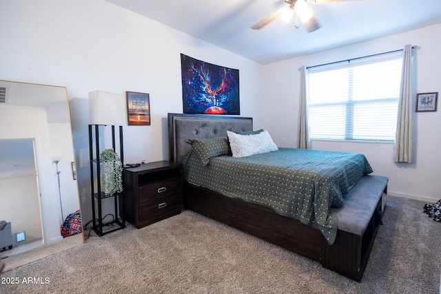
[[[34,140],[0,140],[0,150],[0,218],[12,225],[8,255],[41,245],[43,227]]]

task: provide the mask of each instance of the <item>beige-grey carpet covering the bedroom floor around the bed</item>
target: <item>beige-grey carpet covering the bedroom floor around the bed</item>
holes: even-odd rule
[[[184,211],[3,273],[1,293],[439,293],[441,224],[391,197],[362,282]],[[27,284],[33,277],[35,284]],[[23,282],[23,279],[25,282]]]

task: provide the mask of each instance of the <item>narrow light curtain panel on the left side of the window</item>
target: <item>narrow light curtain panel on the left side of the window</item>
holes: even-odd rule
[[[305,65],[300,67],[300,96],[298,111],[298,138],[297,148],[309,149],[309,127],[306,101],[306,69]]]

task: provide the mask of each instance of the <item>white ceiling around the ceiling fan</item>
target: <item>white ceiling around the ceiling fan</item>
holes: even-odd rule
[[[262,64],[441,23],[441,0],[308,0],[321,26],[311,33],[294,17],[250,28],[284,1],[107,1]]]

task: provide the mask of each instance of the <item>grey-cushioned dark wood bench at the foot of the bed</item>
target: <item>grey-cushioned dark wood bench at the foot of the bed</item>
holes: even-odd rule
[[[324,246],[323,266],[361,280],[382,222],[388,181],[384,176],[363,176],[345,195],[345,204],[332,209],[338,217],[338,232],[334,244]],[[347,250],[342,251],[342,246]]]

